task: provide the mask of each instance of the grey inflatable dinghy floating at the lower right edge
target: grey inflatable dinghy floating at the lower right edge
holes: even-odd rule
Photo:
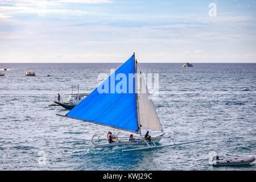
[[[228,157],[228,158],[220,159],[218,158],[217,155],[215,155],[213,156],[213,159],[212,159],[212,166],[245,165],[245,164],[250,164],[254,162],[254,160],[255,160],[254,156],[246,156],[241,158]]]

